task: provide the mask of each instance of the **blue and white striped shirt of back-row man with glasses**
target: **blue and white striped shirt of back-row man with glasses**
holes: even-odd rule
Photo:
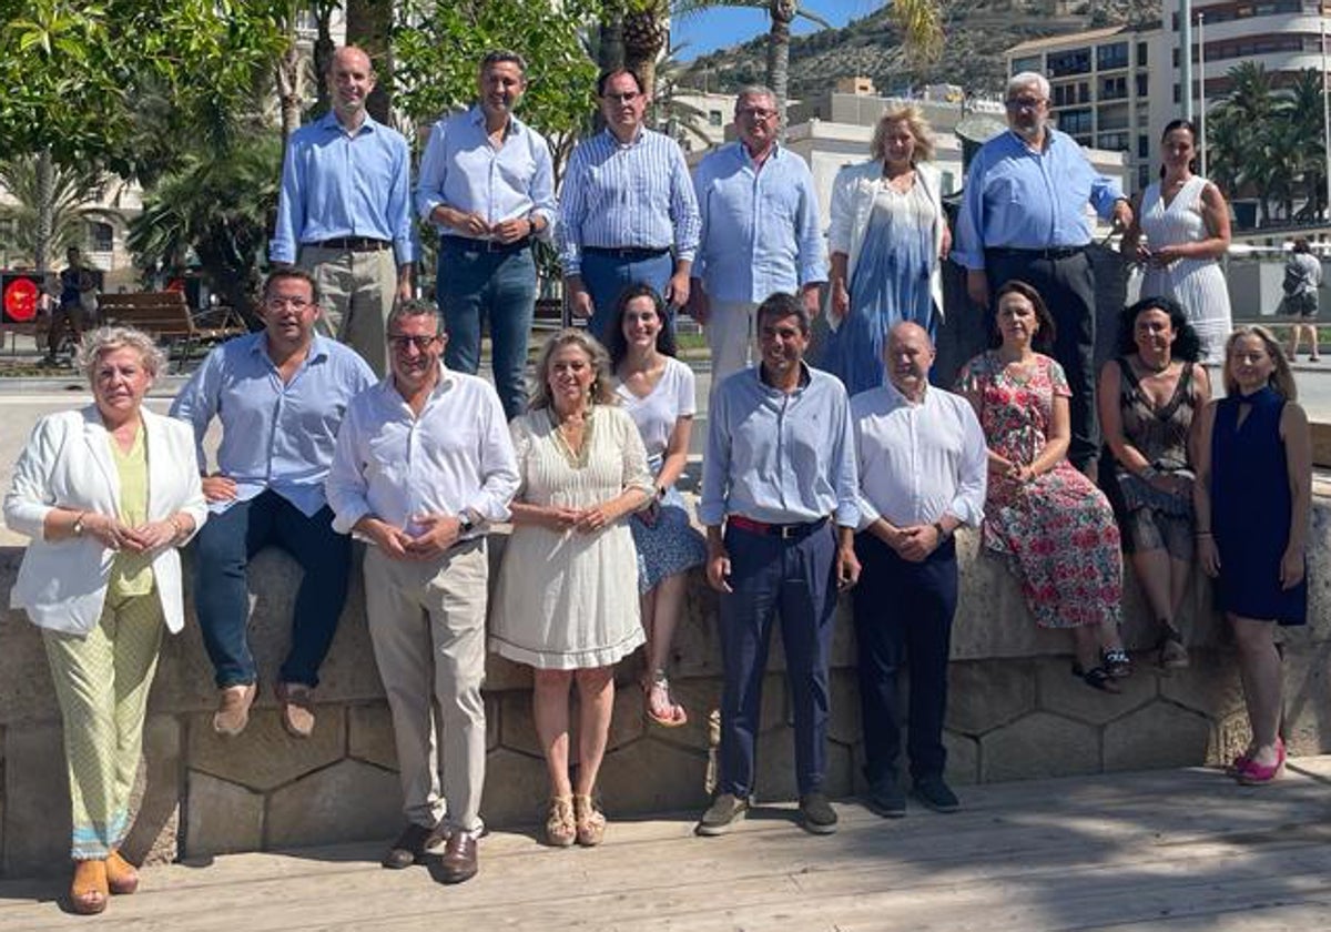
[[[688,165],[669,136],[639,129],[624,145],[606,129],[579,142],[568,158],[558,229],[566,276],[582,272],[586,246],[673,245],[677,260],[692,262],[699,226]]]

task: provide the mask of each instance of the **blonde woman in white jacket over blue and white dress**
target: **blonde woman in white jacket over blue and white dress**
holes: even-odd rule
[[[882,385],[882,345],[898,321],[934,336],[942,318],[941,260],[952,246],[933,136],[914,105],[882,112],[873,158],[832,184],[829,324],[823,367],[855,394]]]

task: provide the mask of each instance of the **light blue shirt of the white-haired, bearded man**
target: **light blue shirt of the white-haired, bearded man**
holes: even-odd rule
[[[984,269],[985,249],[993,246],[1085,246],[1091,237],[1086,205],[1107,220],[1123,197],[1117,181],[1095,173],[1077,140],[1053,128],[1046,132],[1042,152],[1032,152],[1009,129],[976,153],[952,250],[961,265]]]

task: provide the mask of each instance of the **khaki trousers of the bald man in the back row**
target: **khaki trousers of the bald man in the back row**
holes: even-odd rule
[[[385,328],[398,293],[393,248],[354,253],[301,246],[298,265],[319,288],[318,332],[347,344],[382,378],[389,365]]]

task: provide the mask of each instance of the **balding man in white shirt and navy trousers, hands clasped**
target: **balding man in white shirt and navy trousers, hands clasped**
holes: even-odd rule
[[[860,477],[862,566],[852,590],[860,658],[869,808],[900,817],[901,710],[897,671],[909,672],[913,795],[938,812],[960,808],[944,782],[942,719],[957,610],[952,534],[984,518],[989,454],[970,405],[929,385],[934,349],[918,324],[888,333],[888,383],[851,399]]]

